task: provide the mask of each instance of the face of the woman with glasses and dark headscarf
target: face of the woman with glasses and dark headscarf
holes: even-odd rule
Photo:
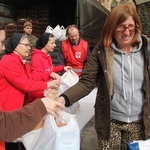
[[[27,38],[23,38],[20,43],[17,45],[13,53],[19,55],[21,59],[25,59],[29,56],[30,53],[30,44]]]

